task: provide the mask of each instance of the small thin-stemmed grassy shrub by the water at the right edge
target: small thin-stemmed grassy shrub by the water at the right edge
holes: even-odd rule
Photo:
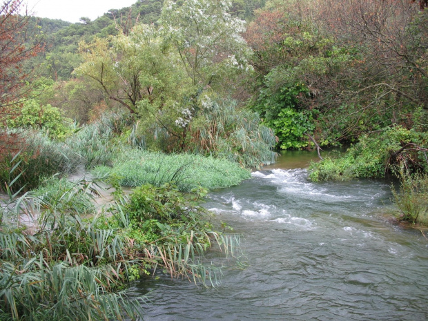
[[[402,212],[402,220],[413,224],[428,225],[428,176],[427,174],[409,172],[404,164],[396,170],[400,179],[397,191],[391,186],[393,200]]]

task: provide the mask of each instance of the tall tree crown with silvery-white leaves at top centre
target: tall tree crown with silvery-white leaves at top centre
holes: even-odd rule
[[[241,37],[245,21],[228,13],[231,1],[166,1],[161,15],[164,37],[179,53],[193,86],[215,86],[231,71],[249,70],[251,53]]]

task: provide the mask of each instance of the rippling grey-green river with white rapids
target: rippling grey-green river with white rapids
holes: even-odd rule
[[[296,167],[313,157],[287,153],[211,193],[205,206],[243,235],[245,256],[212,255],[215,289],[139,282],[145,320],[428,320],[428,240],[387,220],[389,183],[311,183]]]

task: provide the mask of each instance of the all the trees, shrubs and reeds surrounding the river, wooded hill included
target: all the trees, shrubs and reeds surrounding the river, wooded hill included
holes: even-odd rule
[[[24,4],[0,7],[1,320],[138,319],[156,269],[215,286],[204,251],[239,235],[200,202],[280,150],[333,150],[312,182],[398,179],[428,225],[427,1]]]

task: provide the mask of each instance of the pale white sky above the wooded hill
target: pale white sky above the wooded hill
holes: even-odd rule
[[[129,7],[137,0],[24,0],[28,12],[41,18],[79,22],[81,17],[91,20],[101,17],[110,9]]]

